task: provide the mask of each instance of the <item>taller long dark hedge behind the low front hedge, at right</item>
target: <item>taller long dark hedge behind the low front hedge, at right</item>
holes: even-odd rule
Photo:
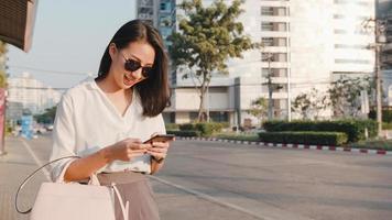
[[[373,120],[339,120],[339,121],[266,121],[263,128],[268,132],[281,131],[325,131],[344,132],[348,142],[364,140],[364,129],[368,129],[369,138],[377,136],[377,122]]]

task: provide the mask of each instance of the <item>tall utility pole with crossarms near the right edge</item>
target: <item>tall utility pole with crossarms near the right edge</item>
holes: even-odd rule
[[[371,25],[373,24],[373,25]],[[385,21],[380,19],[368,19],[363,24],[364,29],[373,29],[374,44],[368,45],[367,48],[374,50],[374,80],[375,80],[375,113],[378,122],[378,133],[381,136],[382,131],[382,91],[381,91],[381,47],[386,42]]]

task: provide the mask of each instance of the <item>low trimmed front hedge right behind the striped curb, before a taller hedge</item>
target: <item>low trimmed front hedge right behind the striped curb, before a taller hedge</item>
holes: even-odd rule
[[[315,144],[315,145],[341,145],[348,138],[344,132],[261,132],[259,139],[262,142]]]

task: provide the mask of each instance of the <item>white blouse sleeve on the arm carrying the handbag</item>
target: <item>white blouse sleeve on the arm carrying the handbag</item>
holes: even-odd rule
[[[52,154],[50,161],[64,156],[76,156],[75,151],[75,121],[73,118],[73,103],[66,94],[57,106],[56,118],[52,134]],[[65,158],[52,164],[51,177],[53,182],[63,183],[68,166],[76,158]]]

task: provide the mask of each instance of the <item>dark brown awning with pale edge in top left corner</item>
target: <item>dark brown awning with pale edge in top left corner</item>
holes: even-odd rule
[[[29,52],[39,0],[0,0],[0,40]]]

